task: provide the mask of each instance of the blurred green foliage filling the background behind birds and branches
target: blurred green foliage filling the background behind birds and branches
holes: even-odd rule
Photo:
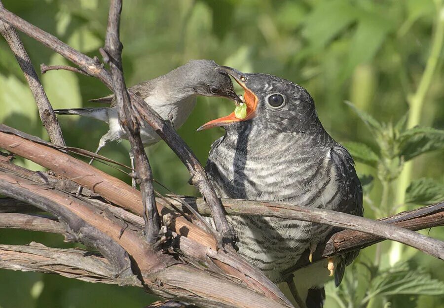
[[[366,174],[362,175],[367,184],[366,216],[379,218],[400,208],[443,200],[443,37],[437,30],[444,24],[442,2],[127,0],[121,22],[125,76],[132,85],[189,59],[214,59],[221,65],[276,74],[301,84],[313,96],[327,131],[346,144],[358,172]],[[74,48],[100,57],[109,1],[3,3]],[[38,42],[21,37],[36,68],[41,63],[68,64]],[[109,94],[99,81],[72,72],[51,71],[41,79],[54,108],[93,106],[88,99]],[[344,101],[351,102],[351,107]],[[198,102],[179,133],[204,163],[210,144],[223,131],[195,130],[229,113],[233,105],[222,99]],[[414,112],[407,113],[409,105],[416,106]],[[47,139],[33,97],[2,39],[0,122]],[[60,117],[60,122],[67,144],[88,150],[96,148],[107,130],[104,123],[86,118]],[[412,129],[417,124],[420,128]],[[127,142],[115,143],[101,154],[128,164],[128,148]],[[185,167],[165,144],[149,148],[148,155],[158,181],[176,193],[196,194],[186,183]],[[95,164],[130,182],[118,171]],[[444,239],[440,228],[426,233]],[[32,240],[69,246],[60,236],[0,230],[1,243]],[[326,308],[443,308],[443,280],[441,261],[383,242],[361,252],[338,289],[328,285]],[[0,286],[1,308],[144,307],[152,300],[138,289],[48,274],[1,270]]]

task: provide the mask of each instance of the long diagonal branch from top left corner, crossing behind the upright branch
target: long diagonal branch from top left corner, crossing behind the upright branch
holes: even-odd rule
[[[113,90],[111,74],[97,59],[91,59],[88,56],[76,51],[74,48],[63,43],[55,36],[44,32],[3,7],[0,7],[0,20],[12,25],[16,29],[59,53],[77,65],[80,69],[99,78],[108,88]],[[190,172],[192,183],[202,193],[202,196],[207,201],[208,206],[211,208],[217,230],[221,232],[222,236],[226,239],[231,239],[234,236],[234,232],[229,227],[224,216],[222,204],[217,198],[217,195],[211,186],[203,167],[200,165],[191,149],[185,144],[184,140],[177,135],[176,131],[173,129],[173,127],[171,127],[169,122],[164,121],[147,103],[145,103],[145,101],[142,100],[142,98],[135,95],[131,91],[129,91],[129,95],[133,104],[133,109],[140,113],[141,117],[155,130],[160,137],[165,140],[165,142],[185,164],[186,168]]]

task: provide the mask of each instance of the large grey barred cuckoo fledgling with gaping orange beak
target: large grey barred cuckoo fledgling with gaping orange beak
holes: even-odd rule
[[[232,113],[199,128],[225,129],[225,135],[212,144],[206,164],[218,195],[362,216],[362,187],[353,159],[324,130],[308,92],[276,76],[220,69],[245,90],[247,114],[239,119]],[[281,273],[294,266],[306,249],[313,252],[333,230],[328,225],[273,217],[227,218],[239,238],[239,253],[274,282],[284,281],[287,277]],[[322,308],[323,285],[333,274],[332,267],[338,285],[345,266],[356,256],[330,260],[329,270],[326,261],[320,261],[297,271],[299,302]]]

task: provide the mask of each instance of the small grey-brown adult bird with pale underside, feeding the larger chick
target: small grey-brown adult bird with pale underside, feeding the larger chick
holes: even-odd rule
[[[170,120],[174,128],[179,129],[185,123],[196,104],[196,97],[224,97],[239,102],[234,92],[231,79],[212,60],[191,60],[169,73],[130,87],[151,106],[163,119]],[[76,114],[107,122],[110,129],[100,138],[96,154],[110,141],[128,139],[119,125],[117,106],[114,95],[109,95],[91,102],[110,103],[110,107],[56,109],[57,114]],[[145,146],[158,142],[161,138],[149,126],[141,127],[142,142]],[[134,159],[130,152],[131,168]],[[89,164],[92,164],[94,158]],[[135,181],[133,179],[133,186]]]

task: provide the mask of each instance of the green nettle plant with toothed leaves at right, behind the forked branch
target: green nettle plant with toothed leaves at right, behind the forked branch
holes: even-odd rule
[[[377,174],[382,190],[379,200],[370,198],[375,182],[373,176],[360,174],[365,205],[373,210],[376,218],[406,210],[407,206],[443,201],[443,183],[432,178],[410,180],[410,174],[407,173],[407,178],[403,177],[403,171],[411,168],[407,164],[417,156],[429,151],[443,150],[444,131],[418,126],[407,128],[408,113],[396,123],[380,123],[352,103],[346,103],[370,130],[377,148],[373,150],[361,142],[344,143],[356,162],[374,168]],[[406,181],[407,189],[397,191],[403,189]],[[414,308],[421,295],[444,295],[444,283],[433,279],[424,268],[407,260],[411,255],[398,253],[396,258],[393,255],[397,254],[399,246],[392,244],[385,247],[386,249],[381,243],[377,245],[374,261],[361,253],[337,289],[333,283],[326,287],[331,305],[334,305],[332,307]],[[390,262],[381,262],[381,256],[385,256],[384,261]]]

